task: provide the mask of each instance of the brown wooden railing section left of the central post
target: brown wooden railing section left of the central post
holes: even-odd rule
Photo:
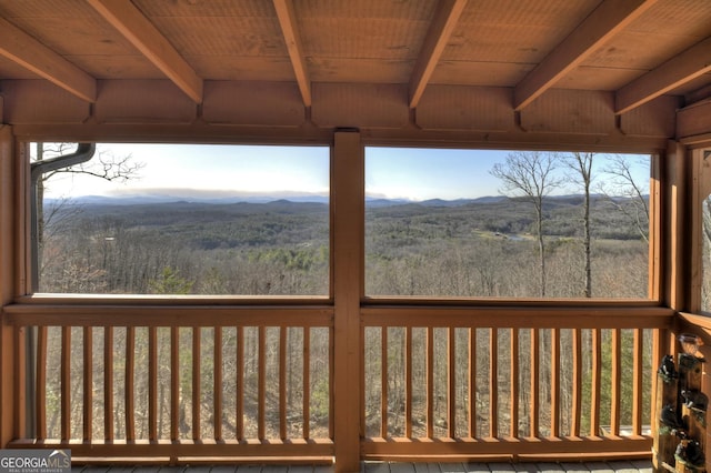
[[[14,447],[71,449],[74,462],[332,461],[329,309],[9,312],[28,381]]]

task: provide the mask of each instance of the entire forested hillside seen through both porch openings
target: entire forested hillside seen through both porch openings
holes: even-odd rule
[[[594,198],[593,296],[647,296],[648,244],[620,202]],[[41,292],[327,294],[321,202],[50,202]],[[581,198],[547,198],[550,295],[581,296]],[[372,295],[535,295],[533,214],[521,199],[371,201]]]

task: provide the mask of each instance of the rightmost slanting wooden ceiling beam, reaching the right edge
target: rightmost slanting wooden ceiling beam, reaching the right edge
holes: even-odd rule
[[[711,37],[618,90],[614,112],[630,111],[708,72]]]

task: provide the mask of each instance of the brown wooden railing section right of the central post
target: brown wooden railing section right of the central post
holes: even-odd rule
[[[659,309],[364,309],[363,456],[649,456],[670,321]]]

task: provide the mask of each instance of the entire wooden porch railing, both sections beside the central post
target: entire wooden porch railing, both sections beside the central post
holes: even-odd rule
[[[330,306],[4,312],[18,382],[10,447],[66,447],[84,462],[333,461],[342,361]],[[361,455],[649,456],[672,321],[659,308],[364,306],[352,334]]]

